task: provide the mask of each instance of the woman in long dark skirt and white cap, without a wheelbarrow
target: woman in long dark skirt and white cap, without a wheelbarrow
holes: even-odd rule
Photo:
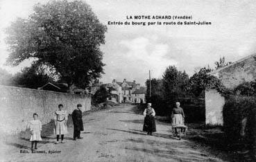
[[[143,115],[145,116],[143,131],[148,132],[147,134],[152,136],[152,132],[156,132],[156,129],[155,110],[151,107],[151,103],[148,103],[147,108],[144,110]]]

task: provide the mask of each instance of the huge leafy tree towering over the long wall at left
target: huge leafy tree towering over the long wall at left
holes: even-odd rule
[[[106,31],[83,1],[38,3],[28,19],[19,18],[7,29],[7,63],[33,58],[33,65],[49,66],[69,87],[85,88],[103,74],[100,45]]]

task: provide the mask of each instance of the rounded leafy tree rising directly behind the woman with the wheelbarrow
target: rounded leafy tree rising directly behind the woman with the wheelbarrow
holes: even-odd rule
[[[186,96],[187,85],[189,83],[189,75],[178,71],[176,66],[169,66],[163,75],[164,95],[169,105],[173,105],[178,98]]]

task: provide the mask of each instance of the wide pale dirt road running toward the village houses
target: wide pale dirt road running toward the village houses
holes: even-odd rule
[[[1,150],[4,161],[222,161],[201,150],[192,141],[171,137],[170,125],[157,122],[157,132],[142,132],[144,117],[132,105],[121,105],[96,111],[83,117],[83,139],[72,141],[73,128],[65,136],[66,143],[54,144],[55,136],[39,144],[41,153],[20,153],[27,150],[8,145]],[[45,139],[44,139],[45,140]],[[28,142],[29,143],[29,142]],[[11,150],[11,151],[10,151]],[[42,152],[46,153],[42,153]],[[49,151],[57,151],[50,154]]]

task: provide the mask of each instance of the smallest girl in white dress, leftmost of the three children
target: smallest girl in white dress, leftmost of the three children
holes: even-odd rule
[[[38,141],[42,141],[41,138],[41,131],[42,131],[42,124],[40,120],[38,120],[38,115],[33,114],[34,120],[31,120],[28,123],[28,128],[31,131],[31,150],[33,151],[33,145],[35,143],[35,150],[37,150],[37,143]]]

